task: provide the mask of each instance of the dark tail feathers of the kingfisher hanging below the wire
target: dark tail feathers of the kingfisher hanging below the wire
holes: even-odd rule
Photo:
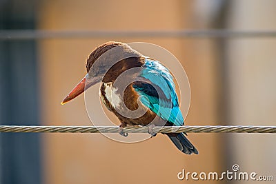
[[[198,154],[197,149],[192,143],[190,143],[184,133],[170,133],[167,135],[172,143],[176,145],[178,150],[184,152],[184,154]]]

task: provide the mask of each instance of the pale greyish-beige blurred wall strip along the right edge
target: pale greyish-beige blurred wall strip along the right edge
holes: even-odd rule
[[[231,9],[235,13],[230,14],[228,28],[275,30],[275,6],[273,0],[233,1]],[[228,113],[233,125],[275,125],[275,48],[273,38],[228,41]],[[231,134],[229,140],[232,162],[243,171],[275,174],[275,135]]]

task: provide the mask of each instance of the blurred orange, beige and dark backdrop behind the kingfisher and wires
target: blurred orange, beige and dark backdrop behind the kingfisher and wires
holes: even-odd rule
[[[17,37],[0,34],[0,122],[90,125],[83,96],[60,105],[86,74],[88,54],[106,41],[144,41],[168,49],[186,70],[191,88],[186,125],[275,125],[275,37],[173,34],[181,30],[275,30],[275,7],[273,0],[0,0],[0,33],[98,31],[81,37],[24,31]],[[130,34],[119,34],[122,31]],[[172,34],[157,34],[160,31]],[[188,138],[199,155],[181,154],[161,134],[126,144],[101,134],[2,133],[0,182],[198,183],[179,181],[177,173],[183,169],[224,172],[233,164],[242,172],[275,177],[273,134],[191,133]],[[255,181],[261,182],[273,183]]]

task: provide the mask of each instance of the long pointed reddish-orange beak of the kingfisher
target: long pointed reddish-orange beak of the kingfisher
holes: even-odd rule
[[[66,96],[66,98],[61,102],[61,105],[75,99],[79,94],[83,93],[85,90],[90,88],[92,85],[99,83],[98,78],[90,78],[88,74],[81,79],[81,81],[76,85],[76,87]]]

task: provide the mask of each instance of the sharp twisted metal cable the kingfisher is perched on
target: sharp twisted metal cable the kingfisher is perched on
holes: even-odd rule
[[[118,126],[19,126],[0,125],[0,132],[46,132],[46,133],[148,133],[149,127]],[[276,126],[166,126],[153,127],[159,133],[276,133]]]

